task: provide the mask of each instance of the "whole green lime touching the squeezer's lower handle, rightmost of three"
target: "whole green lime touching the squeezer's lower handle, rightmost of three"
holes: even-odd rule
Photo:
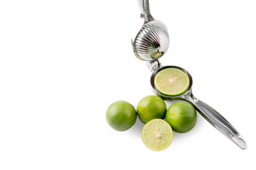
[[[196,109],[188,102],[178,101],[166,112],[166,122],[175,132],[188,132],[196,125]]]

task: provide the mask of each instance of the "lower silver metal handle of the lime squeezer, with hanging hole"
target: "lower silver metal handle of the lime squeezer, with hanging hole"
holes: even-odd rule
[[[232,140],[236,145],[238,145],[238,147],[240,147],[240,149],[247,149],[247,144],[238,130],[235,130],[233,125],[231,125],[228,120],[220,115],[220,113],[215,111],[214,108],[208,106],[208,104],[204,103],[203,101],[198,100],[198,98],[193,97],[192,94],[186,96],[186,99],[196,106],[196,110],[201,113],[203,118],[208,120],[213,127]]]

